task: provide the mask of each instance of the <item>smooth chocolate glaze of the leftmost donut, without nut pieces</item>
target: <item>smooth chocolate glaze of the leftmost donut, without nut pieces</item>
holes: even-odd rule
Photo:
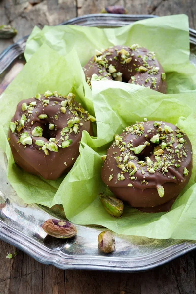
[[[43,100],[49,100],[49,105],[43,106]],[[32,114],[28,115],[28,110],[22,111],[22,104],[36,101],[37,105],[32,110]],[[12,133],[9,131],[9,144],[12,150],[12,154],[14,156],[15,162],[23,168],[26,172],[40,175],[44,179],[55,180],[59,178],[63,173],[68,172],[70,168],[73,166],[77,157],[79,156],[79,142],[82,137],[83,130],[86,130],[91,135],[93,135],[92,125],[90,121],[87,121],[87,114],[83,113],[84,118],[80,117],[80,123],[83,125],[79,125],[78,133],[74,132],[69,134],[69,139],[72,139],[73,142],[69,147],[59,148],[58,152],[49,151],[49,155],[45,155],[44,151],[40,148],[40,146],[35,144],[36,140],[43,140],[45,143],[49,143],[50,138],[55,138],[58,143],[61,144],[61,130],[67,126],[67,121],[71,118],[75,117],[72,111],[75,111],[75,107],[82,109],[82,106],[74,101],[71,107],[66,107],[66,113],[62,113],[60,111],[61,102],[65,101],[63,97],[47,97],[45,98],[41,95],[41,101],[35,98],[30,98],[27,100],[22,100],[19,102],[16,113],[12,118],[12,122],[18,121],[21,119],[23,114],[26,115],[29,121],[25,122],[25,128],[20,132],[17,130]],[[58,103],[58,104],[56,104]],[[47,119],[39,119],[38,116],[40,114],[47,114]],[[55,115],[58,115],[58,119],[55,118]],[[33,122],[31,124],[31,122]],[[49,130],[49,123],[55,125],[56,130]],[[43,137],[33,137],[32,130],[40,126],[43,129]],[[22,145],[18,143],[20,136],[22,133],[28,132],[29,136],[33,140],[32,145]],[[66,162],[66,165],[65,165]]]

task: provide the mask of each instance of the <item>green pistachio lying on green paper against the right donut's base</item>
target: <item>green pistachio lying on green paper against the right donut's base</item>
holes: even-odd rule
[[[107,196],[107,195],[100,195],[100,201],[103,204],[105,210],[112,216],[120,218],[123,215],[124,204],[123,201]]]

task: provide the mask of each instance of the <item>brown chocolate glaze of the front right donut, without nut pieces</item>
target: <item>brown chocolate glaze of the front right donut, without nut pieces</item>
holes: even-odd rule
[[[169,201],[178,196],[180,191],[186,186],[190,179],[192,172],[192,147],[188,137],[183,134],[183,139],[185,142],[183,147],[179,150],[181,157],[178,158],[177,154],[175,153],[175,147],[179,144],[177,141],[178,138],[176,137],[178,134],[175,132],[175,130],[178,130],[178,128],[171,123],[162,122],[160,127],[164,129],[164,125],[167,125],[170,126],[173,130],[173,132],[167,134],[167,138],[164,142],[168,143],[171,140],[171,135],[173,135],[175,142],[170,147],[164,149],[164,154],[160,156],[160,158],[163,160],[163,156],[166,156],[165,161],[168,162],[170,160],[169,156],[172,156],[170,161],[173,161],[173,164],[171,162],[171,165],[167,167],[167,172],[162,172],[161,169],[156,170],[156,173],[147,172],[148,166],[144,165],[141,167],[141,165],[138,164],[138,161],[143,160],[145,162],[147,156],[153,161],[153,163],[157,161],[155,155],[153,155],[154,147],[157,146],[157,144],[154,144],[150,141],[150,139],[157,134],[158,129],[158,127],[155,127],[153,123],[154,121],[141,123],[144,127],[144,132],[142,135],[130,133],[128,131],[129,128],[126,128],[127,131],[119,135],[123,137],[123,142],[126,143],[123,156],[127,154],[135,156],[134,159],[131,160],[137,168],[137,171],[133,175],[135,179],[131,180],[129,172],[122,172],[122,169],[117,167],[115,157],[122,155],[122,152],[120,151],[119,146],[116,146],[115,143],[113,143],[107,151],[107,157],[102,168],[101,177],[103,182],[108,185],[110,190],[117,196],[117,198],[128,202],[132,207],[137,207],[143,211],[143,208],[149,207],[153,208],[150,209],[150,211],[153,212],[167,211],[168,207],[172,205],[172,202]],[[149,130],[151,131],[149,132]],[[158,134],[162,136],[164,135],[164,131]],[[143,145],[146,141],[150,142],[150,146],[145,147],[141,153],[135,155],[134,151],[130,151],[130,149],[127,148],[127,143],[130,143],[130,140],[132,140],[131,142],[133,147]],[[159,148],[161,142],[162,140],[160,140]],[[181,152],[184,152],[186,157],[181,155]],[[177,168],[175,164],[180,164],[180,167]],[[185,167],[189,171],[187,176],[183,175]],[[142,169],[145,174],[142,174]],[[123,173],[123,176],[125,177],[124,180],[118,180],[119,173]],[[111,175],[112,179],[110,177]],[[144,180],[145,182],[141,183]],[[133,186],[129,187],[128,184],[132,184]],[[160,197],[158,194],[158,185],[161,185],[164,188],[163,197]],[[167,202],[169,206],[167,205],[158,207]],[[149,211],[149,209],[145,209],[145,211]]]

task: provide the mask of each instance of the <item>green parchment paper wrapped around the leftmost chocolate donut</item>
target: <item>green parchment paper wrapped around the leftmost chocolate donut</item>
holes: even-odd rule
[[[35,202],[51,207],[62,203],[55,194],[64,176],[56,181],[47,181],[25,172],[15,164],[7,141],[8,125],[18,102],[47,90],[65,95],[72,91],[76,100],[94,113],[91,91],[75,49],[63,57],[49,46],[41,46],[0,96],[0,148],[8,158],[8,180],[25,203]]]

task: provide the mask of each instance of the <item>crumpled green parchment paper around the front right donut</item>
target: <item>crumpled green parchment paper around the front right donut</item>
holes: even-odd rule
[[[191,107],[181,101],[182,95],[164,95],[115,81],[92,82],[92,93],[98,137],[83,133],[80,158],[57,191],[62,195],[66,185],[62,202],[67,218],[77,224],[103,225],[120,234],[196,239],[196,93],[183,94],[185,100],[193,101]],[[98,197],[100,192],[111,193],[100,179],[100,142],[107,146],[114,134],[144,117],[170,122],[186,131],[193,147],[192,177],[170,212],[147,214],[125,206],[123,217],[117,219],[104,210]]]

